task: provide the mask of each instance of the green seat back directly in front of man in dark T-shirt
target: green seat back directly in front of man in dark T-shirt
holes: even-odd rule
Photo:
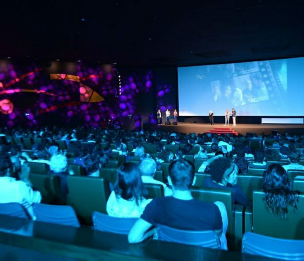
[[[232,191],[230,189],[210,189],[210,188],[197,188],[192,187],[191,194],[194,198],[214,203],[216,201],[223,202],[228,217],[228,227],[226,232],[227,242],[231,244],[234,242],[234,215],[233,215],[233,201]]]

